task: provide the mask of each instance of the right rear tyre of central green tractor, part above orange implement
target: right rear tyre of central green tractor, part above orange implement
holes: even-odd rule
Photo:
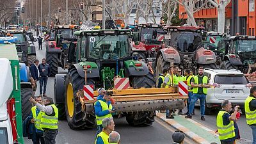
[[[150,72],[146,76],[131,76],[130,81],[132,88],[156,88],[156,79]]]

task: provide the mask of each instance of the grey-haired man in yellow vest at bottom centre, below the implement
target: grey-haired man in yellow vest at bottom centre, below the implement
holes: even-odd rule
[[[115,131],[115,122],[112,117],[103,118],[102,120],[102,131],[97,135],[95,144],[109,144],[109,134]]]

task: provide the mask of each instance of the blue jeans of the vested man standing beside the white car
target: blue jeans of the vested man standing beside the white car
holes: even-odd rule
[[[200,111],[201,111],[201,116],[204,116],[204,111],[205,111],[205,94],[197,94],[193,93],[190,101],[190,106],[189,106],[189,115],[193,113],[193,109],[195,108],[195,103],[199,99],[200,100]]]

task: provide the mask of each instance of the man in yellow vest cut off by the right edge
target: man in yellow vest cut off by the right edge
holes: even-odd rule
[[[250,90],[250,96],[244,102],[246,122],[252,129],[252,144],[256,144],[256,86]]]

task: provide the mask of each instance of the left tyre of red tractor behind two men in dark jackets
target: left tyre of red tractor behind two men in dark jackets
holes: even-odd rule
[[[51,68],[51,76],[55,76],[58,74],[58,53],[49,53],[46,52],[46,63],[50,65]]]

